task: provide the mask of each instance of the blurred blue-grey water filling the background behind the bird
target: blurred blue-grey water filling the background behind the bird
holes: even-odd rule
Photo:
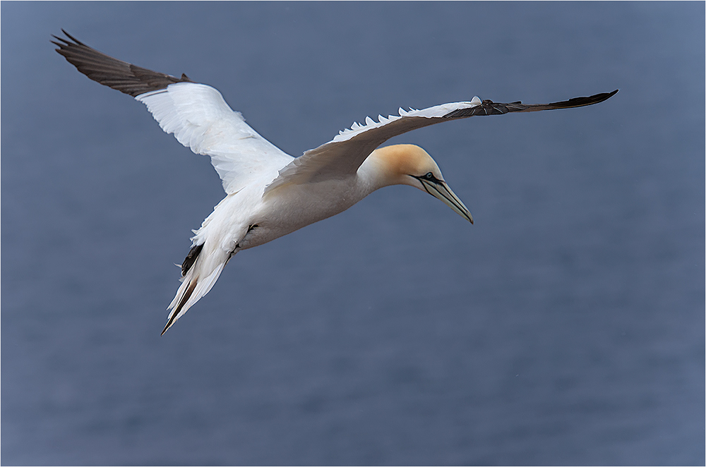
[[[5,465],[705,462],[702,2],[0,8]],[[395,138],[473,226],[385,188],[160,337],[220,183],[61,28],[295,155],[400,106],[621,91]]]

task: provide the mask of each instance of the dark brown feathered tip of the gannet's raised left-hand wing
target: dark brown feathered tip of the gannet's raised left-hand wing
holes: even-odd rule
[[[59,41],[52,41],[52,43],[59,46],[56,51],[63,55],[68,63],[76,66],[78,71],[88,76],[88,78],[132,97],[145,92],[164,89],[173,83],[193,83],[183,73],[181,78],[176,78],[172,75],[157,73],[126,61],[114,59],[112,56],[103,54],[76,40],[63,29],[61,32],[64,32],[68,40],[52,36]]]

